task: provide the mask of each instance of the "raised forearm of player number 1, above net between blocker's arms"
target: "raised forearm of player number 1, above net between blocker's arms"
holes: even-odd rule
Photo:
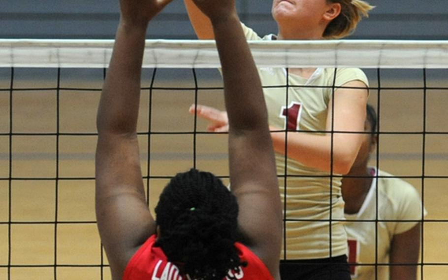
[[[193,3],[192,0],[184,0],[188,17],[192,23],[194,32],[199,39],[213,39],[212,23],[210,19]]]

